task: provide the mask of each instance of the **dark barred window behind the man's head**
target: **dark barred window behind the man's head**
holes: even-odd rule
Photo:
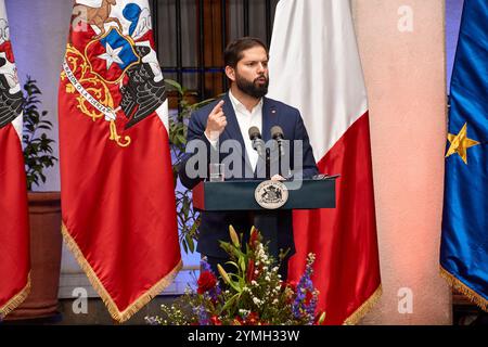
[[[229,41],[254,36],[270,43],[278,4],[278,0],[151,2],[156,49],[165,77],[195,91],[198,100],[227,90],[222,65],[223,49]]]

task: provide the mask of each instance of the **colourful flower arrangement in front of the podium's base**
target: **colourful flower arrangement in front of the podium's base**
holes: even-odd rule
[[[300,281],[284,282],[257,229],[251,230],[245,247],[241,244],[242,235],[237,236],[232,227],[230,236],[231,242],[220,242],[220,246],[229,254],[229,264],[235,272],[227,272],[218,265],[219,280],[203,259],[196,292],[187,288],[174,305],[162,306],[162,317],[146,318],[149,324],[311,325],[323,322],[324,312],[316,316],[319,292],[310,279],[312,254]]]

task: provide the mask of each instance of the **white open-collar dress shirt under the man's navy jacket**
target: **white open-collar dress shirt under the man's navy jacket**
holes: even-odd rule
[[[231,100],[232,107],[234,108],[235,117],[237,118],[239,128],[241,129],[242,138],[244,139],[244,144],[246,146],[246,154],[249,158],[249,164],[253,170],[256,170],[256,165],[258,162],[258,154],[256,150],[253,149],[253,142],[249,139],[248,130],[251,127],[256,127],[259,132],[262,131],[262,98],[259,103],[248,111],[229,90],[229,99]],[[205,137],[207,137],[205,134]],[[217,147],[218,140],[210,140],[207,137],[208,142],[210,142],[214,149]]]

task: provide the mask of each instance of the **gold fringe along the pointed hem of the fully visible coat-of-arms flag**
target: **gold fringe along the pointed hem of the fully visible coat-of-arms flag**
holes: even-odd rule
[[[69,231],[67,230],[64,222],[62,224],[61,231],[63,233],[63,237],[64,237],[66,245],[73,252],[79,266],[87,274],[88,280],[90,281],[91,285],[93,286],[95,292],[102,298],[102,300],[105,304],[105,306],[107,307],[108,312],[111,313],[112,318],[115,321],[117,321],[118,323],[124,323],[125,321],[129,320],[142,307],[144,307],[149,301],[151,301],[155,296],[157,296],[168,285],[170,285],[172,283],[172,281],[175,280],[176,275],[178,274],[178,272],[183,267],[183,262],[180,260],[180,262],[175,267],[175,269],[171,270],[171,272],[169,274],[167,274],[159,282],[154,284],[146,293],[144,293],[141,297],[139,297],[136,301],[133,301],[127,309],[125,309],[124,311],[120,312],[118,310],[117,305],[114,303],[114,300],[110,296],[108,292],[105,290],[102,282],[100,282],[95,272],[91,268],[90,264],[87,261],[84,254],[79,249],[78,245],[76,244],[76,241],[69,234]]]

